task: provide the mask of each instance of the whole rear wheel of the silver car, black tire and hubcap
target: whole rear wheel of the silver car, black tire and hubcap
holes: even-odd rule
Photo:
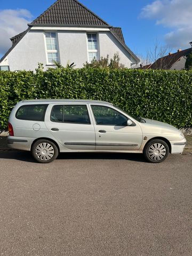
[[[38,163],[51,163],[58,157],[59,150],[50,140],[37,140],[31,148],[31,154]]]

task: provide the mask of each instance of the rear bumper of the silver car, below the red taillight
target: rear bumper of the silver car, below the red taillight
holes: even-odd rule
[[[8,136],[7,145],[9,148],[30,151],[31,144],[36,138]]]

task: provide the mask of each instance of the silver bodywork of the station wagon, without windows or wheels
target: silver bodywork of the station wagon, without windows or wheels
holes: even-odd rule
[[[15,118],[17,110],[22,105],[47,104],[44,121],[30,121]],[[100,125],[95,122],[91,105],[108,106],[125,115],[134,122],[134,126]],[[52,122],[50,113],[55,105],[86,105],[90,124]],[[9,136],[11,148],[31,150],[33,142],[40,138],[55,141],[60,152],[127,152],[142,153],[146,143],[153,138],[169,141],[171,153],[182,153],[186,139],[180,137],[180,131],[171,125],[146,119],[140,123],[128,114],[116,109],[111,103],[99,101],[72,100],[31,100],[19,102],[11,111],[9,122],[13,126],[14,137]],[[58,131],[52,131],[57,128]],[[105,132],[100,132],[105,130]]]

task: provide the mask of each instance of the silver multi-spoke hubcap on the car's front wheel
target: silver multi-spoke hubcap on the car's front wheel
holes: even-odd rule
[[[152,160],[159,161],[165,157],[166,148],[161,143],[154,143],[149,147],[148,154]]]

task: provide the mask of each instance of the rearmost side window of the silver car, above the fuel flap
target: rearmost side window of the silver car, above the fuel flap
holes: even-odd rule
[[[29,121],[44,121],[47,104],[23,105],[15,114],[17,119]]]

